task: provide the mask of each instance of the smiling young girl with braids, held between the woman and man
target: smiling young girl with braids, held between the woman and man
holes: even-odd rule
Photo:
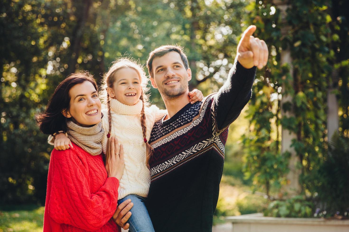
[[[112,136],[124,146],[125,169],[120,179],[118,204],[128,199],[134,204],[130,210],[132,216],[128,220],[131,232],[154,231],[144,204],[150,186],[148,161],[153,152],[148,140],[154,123],[166,114],[166,110],[159,110],[155,105],[148,107],[148,96],[145,94],[148,91],[147,83],[141,65],[134,60],[121,58],[104,75],[100,92],[106,106],[102,110],[102,127],[105,130],[102,148],[105,158],[112,155]],[[203,98],[201,91],[195,90],[189,95],[192,103]],[[69,148],[69,142],[65,134],[61,133],[56,136],[55,148]]]

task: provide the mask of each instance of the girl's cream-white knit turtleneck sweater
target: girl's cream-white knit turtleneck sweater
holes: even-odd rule
[[[112,126],[110,136],[119,140],[119,144],[124,147],[125,170],[118,189],[118,200],[128,194],[136,194],[146,197],[150,186],[150,171],[146,162],[146,146],[143,140],[140,113],[142,110],[142,101],[139,100],[135,105],[128,106],[116,99],[110,99],[110,113]],[[161,119],[166,110],[159,110],[155,105],[144,109],[146,114],[147,140],[149,141],[150,132],[154,123]],[[106,109],[102,110],[102,126],[105,135],[102,139],[103,152],[106,151],[107,133],[109,130],[108,113]]]

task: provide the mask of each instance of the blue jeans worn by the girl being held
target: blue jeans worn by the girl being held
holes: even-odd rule
[[[124,198],[118,200],[118,204],[131,199],[133,207],[131,208],[132,215],[127,223],[130,224],[130,232],[155,232],[153,224],[151,223],[148,210],[144,204],[144,198],[135,194],[129,194]]]

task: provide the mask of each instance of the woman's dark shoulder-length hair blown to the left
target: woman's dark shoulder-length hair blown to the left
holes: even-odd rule
[[[87,71],[75,72],[63,80],[56,88],[47,104],[46,111],[38,113],[35,118],[40,131],[44,134],[53,134],[58,131],[67,131],[67,117],[62,110],[69,109],[69,90],[77,84],[91,82],[97,90],[97,84],[93,76]]]

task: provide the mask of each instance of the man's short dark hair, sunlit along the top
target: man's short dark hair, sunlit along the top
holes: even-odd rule
[[[148,72],[149,72],[150,77],[154,78],[153,67],[152,67],[154,58],[162,57],[169,52],[179,53],[179,55],[183,61],[185,69],[189,68],[188,59],[187,59],[187,56],[185,55],[185,53],[183,52],[183,47],[179,47],[179,46],[175,46],[175,45],[165,45],[165,46],[161,46],[161,47],[156,48],[154,51],[152,51],[149,54],[149,58],[147,61],[147,68],[148,68]]]

